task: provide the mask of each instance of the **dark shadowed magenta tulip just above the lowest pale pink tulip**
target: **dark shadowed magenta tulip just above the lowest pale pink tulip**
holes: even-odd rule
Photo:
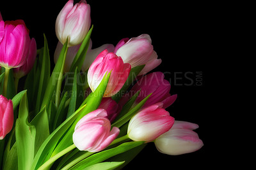
[[[108,118],[110,122],[113,122],[120,112],[121,107],[120,105],[116,104],[115,100],[113,100],[111,97],[104,97],[101,100],[99,109],[105,109],[108,113],[106,118]]]

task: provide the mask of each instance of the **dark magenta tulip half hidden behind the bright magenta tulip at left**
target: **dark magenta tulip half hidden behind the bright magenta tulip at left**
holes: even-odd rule
[[[33,68],[35,60],[36,60],[36,40],[35,38],[32,38],[29,45],[29,54],[28,54],[26,63],[24,63],[24,65],[20,67],[13,68],[14,77],[17,77],[20,79],[24,75],[27,75],[30,72],[30,70]]]

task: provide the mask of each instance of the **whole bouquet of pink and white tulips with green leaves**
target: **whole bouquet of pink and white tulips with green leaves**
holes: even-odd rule
[[[1,168],[121,169],[147,143],[168,155],[203,146],[198,125],[166,111],[177,95],[150,72],[161,59],[149,35],[92,49],[85,0],[69,0],[55,29],[51,69],[47,38],[38,49],[23,20],[0,13]]]

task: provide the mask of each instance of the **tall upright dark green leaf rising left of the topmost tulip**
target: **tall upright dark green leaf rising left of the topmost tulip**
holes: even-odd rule
[[[39,63],[42,63],[41,71],[40,71],[40,80],[38,87],[36,88],[38,93],[36,97],[36,113],[40,111],[40,105],[45,93],[45,84],[49,81],[50,72],[51,72],[51,64],[50,64],[50,55],[48,49],[47,39],[44,35],[44,51],[42,58],[39,58]],[[41,61],[41,62],[40,62]]]

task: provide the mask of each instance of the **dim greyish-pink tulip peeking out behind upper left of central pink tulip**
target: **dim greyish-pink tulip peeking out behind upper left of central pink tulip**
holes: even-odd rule
[[[90,41],[90,46],[86,52],[86,56],[84,59],[84,63],[82,66],[82,70],[86,72],[90,65],[92,65],[93,61],[97,56],[99,56],[100,52],[103,50],[108,50],[108,52],[113,52],[115,49],[115,46],[113,44],[106,43],[104,45],[101,45],[100,47],[97,47],[96,49],[92,49],[92,41]]]

